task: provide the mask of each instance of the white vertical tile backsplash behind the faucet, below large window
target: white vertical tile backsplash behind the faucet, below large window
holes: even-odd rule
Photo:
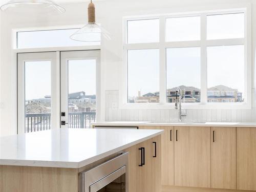
[[[112,103],[117,103],[117,109]],[[178,110],[119,109],[119,92],[105,91],[105,121],[177,122]],[[251,110],[186,110],[184,121],[189,122],[256,122],[256,109]]]

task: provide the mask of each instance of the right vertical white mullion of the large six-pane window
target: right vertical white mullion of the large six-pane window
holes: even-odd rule
[[[207,102],[207,15],[201,15],[201,103]]]

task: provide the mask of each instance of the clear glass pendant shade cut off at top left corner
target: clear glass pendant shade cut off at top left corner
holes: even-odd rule
[[[2,11],[35,14],[38,16],[47,16],[57,13],[64,13],[66,10],[49,0],[11,0],[1,6]]]

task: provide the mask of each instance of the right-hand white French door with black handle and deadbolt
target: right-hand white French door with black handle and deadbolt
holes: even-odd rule
[[[100,51],[61,52],[60,69],[61,127],[88,128],[100,112]]]

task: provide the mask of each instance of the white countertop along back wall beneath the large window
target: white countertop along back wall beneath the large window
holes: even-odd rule
[[[147,121],[112,121],[91,123],[95,126],[224,126],[224,127],[256,127],[256,122],[172,122],[156,123]]]

